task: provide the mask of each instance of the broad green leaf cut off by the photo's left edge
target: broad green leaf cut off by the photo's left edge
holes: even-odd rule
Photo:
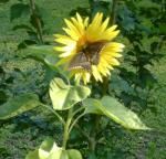
[[[39,97],[35,94],[22,94],[9,99],[0,106],[0,119],[14,117],[39,105]]]

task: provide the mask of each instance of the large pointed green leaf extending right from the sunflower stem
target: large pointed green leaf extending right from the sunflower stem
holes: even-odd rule
[[[101,100],[89,98],[83,102],[85,113],[105,115],[128,129],[149,129],[138,116],[111,96],[104,96]]]

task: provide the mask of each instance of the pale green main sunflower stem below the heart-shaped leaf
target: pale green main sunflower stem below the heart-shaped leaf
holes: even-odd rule
[[[72,121],[72,117],[73,117],[73,109],[71,108],[68,113],[68,119],[64,125],[63,144],[62,144],[63,149],[66,148],[66,142],[69,139],[69,134],[70,134],[69,128],[70,128],[71,121]]]

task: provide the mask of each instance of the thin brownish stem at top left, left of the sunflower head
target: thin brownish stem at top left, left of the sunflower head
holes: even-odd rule
[[[30,8],[31,8],[32,15],[34,17],[34,20],[35,20],[35,25],[37,25],[37,32],[38,32],[39,41],[42,44],[43,43],[42,25],[41,25],[40,18],[38,17],[37,9],[35,9],[35,3],[34,3],[33,0],[30,0]]]

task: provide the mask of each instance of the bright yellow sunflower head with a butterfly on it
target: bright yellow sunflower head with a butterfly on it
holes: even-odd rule
[[[108,76],[113,66],[120,65],[116,60],[122,55],[124,45],[113,42],[117,36],[117,25],[108,26],[110,18],[103,21],[103,13],[96,13],[92,22],[89,18],[82,19],[79,13],[76,18],[64,20],[66,28],[63,28],[65,35],[55,34],[55,42],[61,43],[54,50],[60,53],[59,64],[65,64],[75,76],[76,81],[83,80],[89,83],[93,76],[96,81],[103,82],[103,76]]]

